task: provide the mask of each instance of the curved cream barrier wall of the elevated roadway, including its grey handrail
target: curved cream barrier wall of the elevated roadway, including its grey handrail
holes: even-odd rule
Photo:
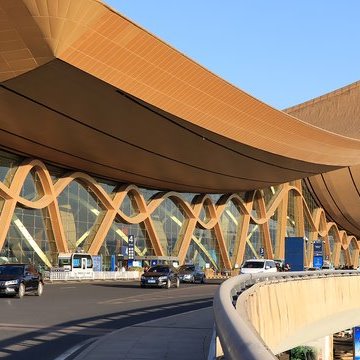
[[[319,271],[240,275],[226,281],[214,300],[226,359],[275,359],[283,351],[359,325],[359,276],[358,271]]]

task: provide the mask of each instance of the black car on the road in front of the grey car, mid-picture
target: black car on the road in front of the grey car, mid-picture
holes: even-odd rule
[[[172,265],[155,265],[141,275],[140,286],[156,286],[170,289],[179,287],[180,279],[177,270]]]

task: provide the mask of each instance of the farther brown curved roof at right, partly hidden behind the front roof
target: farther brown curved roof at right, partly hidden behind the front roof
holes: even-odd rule
[[[360,139],[360,81],[286,111],[326,130]],[[328,217],[359,238],[360,165],[315,175],[306,182]]]

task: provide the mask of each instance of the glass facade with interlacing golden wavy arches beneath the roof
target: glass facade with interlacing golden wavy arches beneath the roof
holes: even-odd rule
[[[336,246],[336,227],[320,236],[312,220],[316,204],[306,188],[294,188],[295,183],[237,194],[174,195],[81,173],[73,176],[4,151],[0,181],[2,263],[51,267],[61,248],[102,255],[107,268],[112,256],[126,255],[129,235],[135,237],[139,259],[178,257],[219,271],[249,258],[281,258],[281,237],[298,234],[321,238],[332,262],[348,264],[358,258],[356,242],[349,244],[347,255],[337,250],[342,246]],[[19,189],[14,183],[21,184]],[[301,187],[301,182],[296,184]]]

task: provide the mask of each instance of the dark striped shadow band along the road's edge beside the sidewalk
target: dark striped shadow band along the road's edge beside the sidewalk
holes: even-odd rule
[[[94,285],[101,286],[100,284]],[[105,284],[105,286],[107,285],[110,286],[110,284]],[[126,286],[130,287],[130,284]],[[134,286],[136,285],[134,284]],[[0,357],[16,360],[53,360],[64,351],[87,339],[95,339],[114,330],[142,322],[203,309],[212,306],[212,304],[212,297],[208,297],[200,300],[179,301],[171,304],[136,308],[130,311],[112,312],[106,315],[59,323],[52,327],[39,327],[36,330],[30,330],[26,334],[0,341]],[[61,317],[61,314],[59,314],[59,317]],[[10,325],[7,324],[8,327]],[[16,329],[21,328],[21,325],[13,326]]]

